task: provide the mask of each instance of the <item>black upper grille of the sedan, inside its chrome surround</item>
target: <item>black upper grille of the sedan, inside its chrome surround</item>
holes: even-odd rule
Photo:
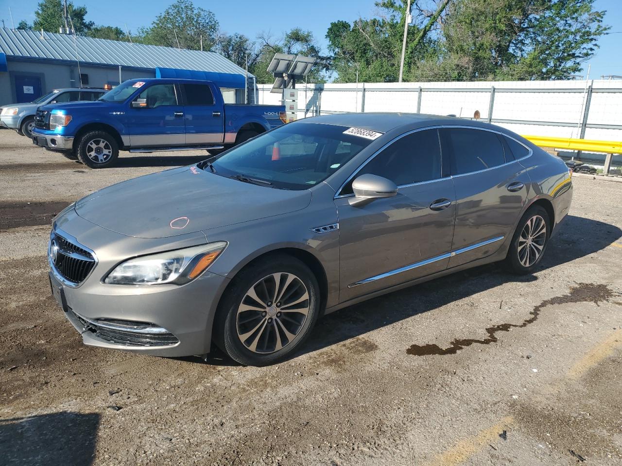
[[[53,233],[49,249],[50,265],[69,285],[78,285],[85,280],[93,267],[93,254],[67,238]]]

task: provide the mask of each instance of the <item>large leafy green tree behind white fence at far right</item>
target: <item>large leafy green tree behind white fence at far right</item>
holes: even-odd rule
[[[609,29],[594,0],[453,0],[440,78],[568,79]],[[444,68],[444,69],[443,69]],[[447,74],[446,74],[447,73]]]

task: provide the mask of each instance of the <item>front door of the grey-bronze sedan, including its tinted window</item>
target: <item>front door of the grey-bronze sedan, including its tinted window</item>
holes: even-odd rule
[[[384,148],[352,178],[384,176],[398,186],[397,196],[354,207],[351,181],[338,193],[341,302],[447,268],[455,192],[443,168],[448,171],[438,130],[419,130]]]

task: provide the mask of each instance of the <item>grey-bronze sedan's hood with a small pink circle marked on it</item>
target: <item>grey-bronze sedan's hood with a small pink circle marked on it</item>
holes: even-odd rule
[[[109,186],[80,199],[80,217],[139,238],[162,238],[304,209],[311,192],[251,185],[180,167]]]

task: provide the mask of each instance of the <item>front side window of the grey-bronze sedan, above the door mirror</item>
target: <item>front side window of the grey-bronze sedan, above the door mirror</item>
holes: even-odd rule
[[[436,129],[417,131],[401,137],[372,158],[340,194],[353,194],[352,182],[371,173],[393,181],[397,186],[442,178],[440,170],[439,132]]]

